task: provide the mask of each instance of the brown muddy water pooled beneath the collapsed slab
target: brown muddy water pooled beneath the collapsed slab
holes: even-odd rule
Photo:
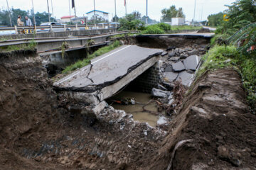
[[[134,98],[136,102],[134,105],[123,105],[119,103],[115,103],[113,101],[121,101],[127,98]],[[116,96],[110,98],[109,103],[117,110],[123,110],[126,113],[131,113],[134,116],[134,120],[138,120],[139,122],[149,123],[152,127],[156,127],[157,121],[160,116],[152,114],[151,111],[157,113],[157,106],[155,102],[149,103],[146,105],[146,111],[143,111],[143,106],[151,100],[151,94],[137,93],[131,91],[122,91]]]

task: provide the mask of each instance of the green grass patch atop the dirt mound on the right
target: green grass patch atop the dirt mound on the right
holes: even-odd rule
[[[256,55],[242,55],[235,46],[215,45],[203,56],[203,60],[196,79],[208,70],[234,68],[242,77],[251,111],[256,113]]]

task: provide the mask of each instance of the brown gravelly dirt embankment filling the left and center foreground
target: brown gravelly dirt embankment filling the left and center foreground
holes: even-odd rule
[[[139,169],[164,139],[112,107],[81,115],[55,94],[40,57],[5,55],[0,72],[0,169]]]

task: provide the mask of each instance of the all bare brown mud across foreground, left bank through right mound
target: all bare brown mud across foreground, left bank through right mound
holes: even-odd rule
[[[165,132],[53,91],[41,57],[0,61],[0,169],[256,169],[256,117],[233,69],[192,85]]]

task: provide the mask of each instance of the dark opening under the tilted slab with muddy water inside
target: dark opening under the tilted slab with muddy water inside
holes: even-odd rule
[[[170,121],[165,111],[151,95],[153,88],[159,84],[160,75],[157,64],[130,82],[117,94],[107,99],[107,103],[116,110],[132,114],[133,119],[149,123],[151,127],[163,125]]]

